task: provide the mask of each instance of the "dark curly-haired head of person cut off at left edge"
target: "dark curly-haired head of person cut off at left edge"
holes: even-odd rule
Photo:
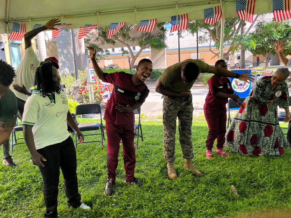
[[[15,76],[14,68],[5,61],[0,60],[0,98],[8,92]]]

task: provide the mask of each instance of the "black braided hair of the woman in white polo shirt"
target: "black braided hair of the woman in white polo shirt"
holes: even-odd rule
[[[61,93],[61,88],[56,89],[55,92],[50,93],[54,87],[53,83],[53,72],[52,72],[52,64],[45,63],[40,67],[36,68],[36,75],[34,78],[34,87],[36,90],[40,90],[40,95],[42,97],[49,97],[50,95]],[[50,98],[50,97],[49,97]]]

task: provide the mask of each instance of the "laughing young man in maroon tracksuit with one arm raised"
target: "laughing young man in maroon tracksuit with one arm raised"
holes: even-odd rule
[[[116,181],[116,168],[118,165],[118,153],[120,140],[123,146],[123,161],[125,167],[125,183],[142,186],[134,177],[136,163],[134,146],[134,113],[133,111],[145,102],[148,97],[148,87],[144,81],[152,74],[152,62],[149,59],[142,59],[136,67],[134,75],[125,72],[107,74],[98,66],[95,59],[96,50],[90,50],[95,73],[103,82],[114,85],[112,95],[105,108],[104,120],[106,121],[107,134],[107,181],[104,194],[111,196]]]

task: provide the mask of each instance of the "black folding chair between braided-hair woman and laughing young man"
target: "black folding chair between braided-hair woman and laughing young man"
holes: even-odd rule
[[[96,130],[100,130],[100,133],[95,133],[95,134],[87,134],[84,136],[88,136],[88,135],[101,135],[101,141],[97,140],[97,141],[89,141],[89,142],[83,142],[83,143],[90,143],[90,142],[101,142],[102,145],[102,149],[103,147],[103,139],[105,139],[104,137],[104,129],[103,129],[103,123],[102,123],[102,110],[101,110],[101,105],[100,104],[81,104],[78,105],[75,109],[75,121],[77,122],[77,115],[83,115],[83,114],[100,114],[100,123],[99,122],[94,122],[94,123],[80,123],[78,125],[79,130],[81,132],[83,131],[96,131]],[[85,139],[84,139],[85,140]],[[75,133],[75,146],[77,149],[77,144],[79,144],[79,142],[77,141],[77,135]]]

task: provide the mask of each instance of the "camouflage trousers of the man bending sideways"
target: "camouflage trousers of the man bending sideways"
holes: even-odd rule
[[[163,97],[164,158],[167,162],[175,161],[175,134],[178,117],[182,157],[192,159],[192,95],[189,94],[185,97]]]

